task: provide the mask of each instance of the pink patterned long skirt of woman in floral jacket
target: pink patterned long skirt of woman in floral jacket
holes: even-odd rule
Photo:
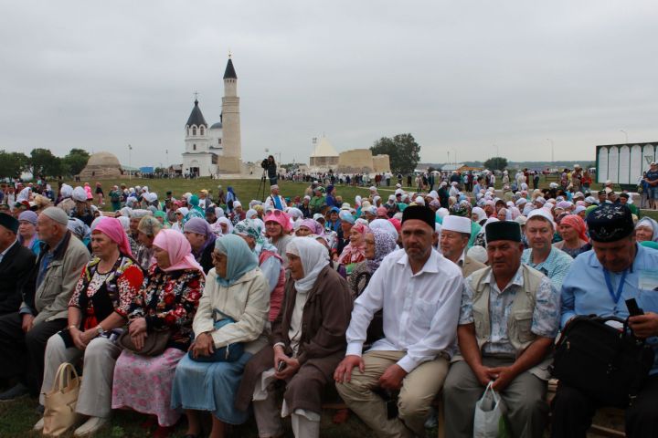
[[[140,356],[124,349],[114,368],[112,409],[157,416],[158,424],[173,426],[180,412],[171,409],[172,381],[178,361],[186,355],[180,349],[165,349],[160,356]]]

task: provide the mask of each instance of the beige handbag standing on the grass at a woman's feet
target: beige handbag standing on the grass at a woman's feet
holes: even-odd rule
[[[53,387],[45,395],[45,435],[59,436],[78,422],[80,414],[75,409],[81,382],[73,365],[69,362],[59,365]]]

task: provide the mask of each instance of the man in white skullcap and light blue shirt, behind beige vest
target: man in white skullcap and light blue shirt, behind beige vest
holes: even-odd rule
[[[544,208],[538,208],[528,214],[525,237],[529,247],[524,250],[521,262],[550,278],[553,287],[560,290],[573,258],[553,246],[555,226],[553,216]]]

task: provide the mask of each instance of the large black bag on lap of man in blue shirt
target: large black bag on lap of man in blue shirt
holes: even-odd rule
[[[621,323],[623,329],[610,327]],[[628,319],[577,316],[557,341],[552,373],[602,406],[629,406],[653,366],[653,349],[636,338]]]

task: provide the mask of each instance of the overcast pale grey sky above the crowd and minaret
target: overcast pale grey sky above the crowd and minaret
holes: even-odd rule
[[[658,3],[8,1],[0,149],[182,162],[195,91],[238,73],[242,158],[308,162],[410,132],[422,162],[594,161],[658,140]],[[168,150],[168,157],[164,151]]]

